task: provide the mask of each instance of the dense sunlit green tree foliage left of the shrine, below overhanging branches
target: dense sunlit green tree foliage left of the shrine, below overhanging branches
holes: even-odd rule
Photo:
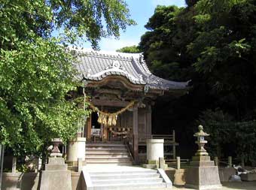
[[[53,137],[66,142],[88,113],[66,98],[78,85],[72,56],[54,41],[34,40],[18,41],[0,59],[0,139],[17,154],[37,152]]]

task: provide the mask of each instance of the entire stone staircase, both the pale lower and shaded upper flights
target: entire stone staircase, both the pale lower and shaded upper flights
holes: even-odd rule
[[[83,167],[87,190],[162,190],[172,182],[163,170],[134,167],[129,149],[121,142],[92,142],[86,145]]]

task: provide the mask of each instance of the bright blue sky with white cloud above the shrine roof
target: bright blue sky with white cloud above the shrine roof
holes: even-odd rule
[[[119,40],[114,38],[102,38],[99,42],[100,50],[115,51],[121,47],[138,45],[141,36],[146,32],[145,24],[154,14],[157,5],[176,5],[184,7],[184,0],[126,0],[130,10],[131,18],[136,21],[136,26],[127,26],[125,32],[120,33]],[[90,43],[84,44],[85,48],[90,48]]]

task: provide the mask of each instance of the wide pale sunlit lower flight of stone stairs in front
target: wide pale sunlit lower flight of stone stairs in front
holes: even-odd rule
[[[87,171],[87,190],[135,190],[135,189],[171,189],[172,183],[163,182],[164,179],[157,170],[130,167],[129,170]]]

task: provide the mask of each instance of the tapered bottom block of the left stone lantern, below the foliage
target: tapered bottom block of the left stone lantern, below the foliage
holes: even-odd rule
[[[40,190],[71,190],[71,171],[44,170],[41,175]]]

